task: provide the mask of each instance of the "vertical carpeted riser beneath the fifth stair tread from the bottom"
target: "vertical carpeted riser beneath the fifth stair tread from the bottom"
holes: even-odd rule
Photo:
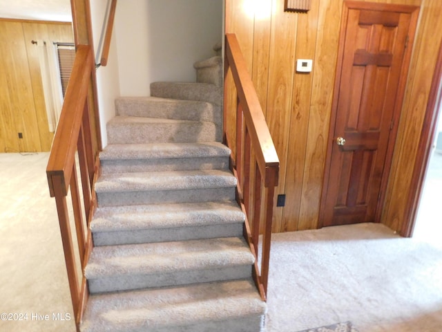
[[[102,160],[102,174],[227,169],[226,157]]]

